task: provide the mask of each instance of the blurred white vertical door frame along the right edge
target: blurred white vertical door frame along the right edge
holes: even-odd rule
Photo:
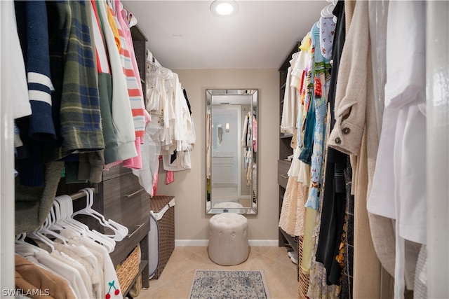
[[[428,1],[427,298],[449,298],[448,18],[448,1]]]

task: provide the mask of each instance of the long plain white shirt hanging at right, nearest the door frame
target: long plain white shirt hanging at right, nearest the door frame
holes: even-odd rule
[[[399,12],[412,15],[416,20],[414,26],[401,25],[398,20]],[[426,209],[426,162],[422,158],[426,150],[422,146],[422,141],[426,140],[423,27],[424,1],[413,4],[396,4],[390,1],[385,108],[368,210],[373,214],[396,219],[395,298],[403,298],[405,290],[403,277],[407,271],[406,240],[426,244],[427,235],[426,214],[422,212]],[[402,37],[403,32],[407,32],[407,38]],[[399,43],[408,49],[405,54],[396,50],[395,45]],[[413,260],[415,265],[416,251]],[[409,288],[413,288],[413,282],[410,281]]]

